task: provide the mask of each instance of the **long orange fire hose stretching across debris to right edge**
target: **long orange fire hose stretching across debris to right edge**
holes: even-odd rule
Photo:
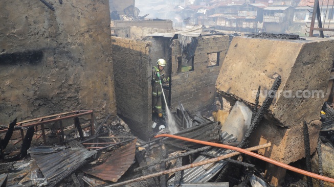
[[[175,138],[175,139],[181,139],[183,141],[193,142],[193,143],[196,143],[196,144],[203,144],[203,145],[207,145],[207,146],[219,147],[219,148],[224,148],[224,149],[231,149],[233,151],[237,151],[237,152],[240,152],[240,153],[244,153],[244,154],[253,156],[255,158],[264,160],[266,162],[272,163],[273,165],[285,168],[287,170],[290,170],[290,171],[293,171],[293,172],[296,172],[296,173],[299,173],[299,174],[303,174],[303,175],[306,175],[306,176],[309,176],[309,177],[312,177],[312,178],[316,178],[316,179],[319,179],[319,180],[323,180],[323,181],[326,181],[326,182],[334,183],[333,178],[329,178],[329,177],[325,177],[325,176],[318,175],[318,174],[315,174],[315,173],[307,172],[305,170],[301,170],[301,169],[286,165],[285,163],[282,163],[282,162],[264,157],[262,155],[259,155],[259,154],[253,153],[251,151],[241,149],[241,148],[228,146],[228,145],[224,145],[224,144],[216,144],[216,143],[212,143],[212,142],[199,141],[197,139],[191,139],[191,138],[181,137],[181,136],[176,136],[176,135],[171,135],[171,134],[160,134],[160,135],[157,135],[157,136],[154,136],[154,137],[155,138],[158,138],[158,137],[172,137],[172,138]]]

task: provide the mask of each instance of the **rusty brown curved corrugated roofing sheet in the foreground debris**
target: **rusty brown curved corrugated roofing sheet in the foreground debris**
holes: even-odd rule
[[[104,163],[97,166],[83,168],[82,171],[98,177],[102,180],[117,182],[119,178],[132,165],[135,159],[137,139],[130,144],[116,149],[110,153],[105,153],[102,157],[106,158]]]

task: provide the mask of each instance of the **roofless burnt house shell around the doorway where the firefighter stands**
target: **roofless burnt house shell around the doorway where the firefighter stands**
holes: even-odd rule
[[[112,37],[117,113],[135,135],[147,139],[151,131],[152,67],[160,58],[167,61],[165,72],[170,82],[164,89],[171,111],[176,110],[179,102],[190,112],[205,109],[213,102],[229,37],[199,36],[201,33],[202,28],[197,27],[142,39]],[[191,46],[192,53],[184,51],[182,46],[186,45]]]

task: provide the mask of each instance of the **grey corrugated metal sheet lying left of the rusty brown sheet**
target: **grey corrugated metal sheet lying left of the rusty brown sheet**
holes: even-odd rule
[[[94,155],[96,151],[87,151],[85,148],[71,148],[52,154],[31,154],[37,165],[49,181],[62,174],[72,166]]]

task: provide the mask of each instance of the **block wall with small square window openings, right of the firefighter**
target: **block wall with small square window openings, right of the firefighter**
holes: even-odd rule
[[[215,83],[229,46],[228,36],[205,36],[198,38],[194,56],[194,71],[177,73],[181,56],[179,40],[172,43],[171,63],[171,110],[175,111],[179,101],[189,111],[204,109],[212,104],[215,97]],[[219,65],[208,67],[208,53],[219,52]]]

